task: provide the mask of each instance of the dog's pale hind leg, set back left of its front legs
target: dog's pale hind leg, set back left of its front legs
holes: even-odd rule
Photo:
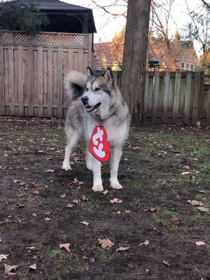
[[[67,145],[65,148],[65,157],[64,157],[62,169],[67,171],[67,170],[71,170],[70,156],[73,151],[73,148],[76,146],[78,142],[78,138],[80,137],[80,132],[78,130],[68,132],[66,137],[67,137]]]

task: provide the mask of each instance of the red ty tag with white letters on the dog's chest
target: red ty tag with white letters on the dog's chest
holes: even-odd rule
[[[110,145],[106,141],[107,133],[103,125],[94,128],[90,139],[90,153],[100,162],[107,162],[110,158]]]

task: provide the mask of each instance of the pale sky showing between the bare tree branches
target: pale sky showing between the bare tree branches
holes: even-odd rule
[[[97,34],[94,36],[94,43],[100,41],[111,41],[115,33],[118,33],[126,23],[125,18],[123,17],[113,17],[104,12],[100,8],[96,8],[91,0],[62,0],[67,3],[72,3],[78,6],[85,6],[87,8],[92,8],[94,14],[94,22],[97,28]],[[107,5],[112,3],[113,0],[95,0],[99,5]],[[159,2],[164,2],[165,0],[159,0]],[[186,0],[191,10],[197,10],[200,0]],[[208,0],[210,2],[210,0]],[[112,10],[114,13],[119,13],[120,8],[115,8]],[[181,33],[183,32],[183,27],[187,22],[190,22],[188,15],[188,10],[186,8],[185,0],[175,0],[172,8],[172,20],[169,30],[171,34],[175,34],[178,29]],[[174,24],[176,22],[176,25]],[[195,49],[197,53],[200,52],[200,45],[195,43]]]

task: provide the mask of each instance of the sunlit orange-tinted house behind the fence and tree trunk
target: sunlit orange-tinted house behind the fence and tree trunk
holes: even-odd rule
[[[113,70],[120,70],[119,64],[123,62],[123,46],[122,40],[95,43],[94,50],[99,69],[104,70],[110,66]],[[160,67],[156,68],[157,71],[194,71],[198,64],[192,41],[171,41],[167,44],[162,39],[151,37],[147,60],[153,59],[160,62]]]

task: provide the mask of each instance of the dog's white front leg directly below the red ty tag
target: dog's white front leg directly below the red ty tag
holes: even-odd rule
[[[94,192],[102,192],[104,190],[102,186],[102,162],[99,162],[96,158],[94,158],[92,155],[91,157],[91,169],[93,173],[93,187],[92,190]]]

